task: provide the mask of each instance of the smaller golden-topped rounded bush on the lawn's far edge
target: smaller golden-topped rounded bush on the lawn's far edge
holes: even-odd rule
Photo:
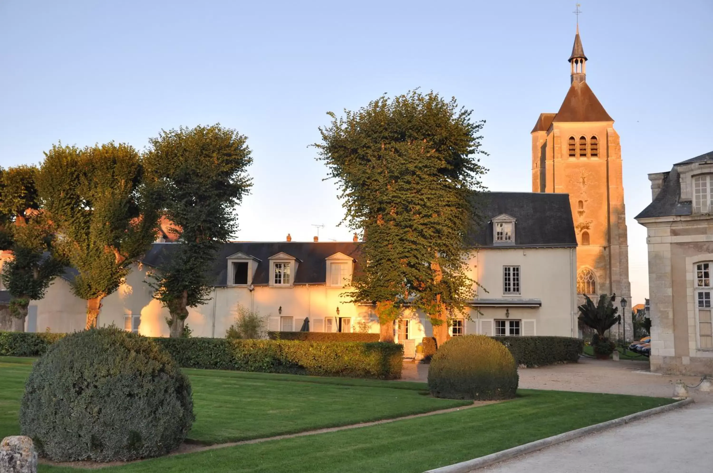
[[[518,367],[510,350],[492,338],[453,337],[431,359],[429,389],[448,399],[511,399],[518,389]]]

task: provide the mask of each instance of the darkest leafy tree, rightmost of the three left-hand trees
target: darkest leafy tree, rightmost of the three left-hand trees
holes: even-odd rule
[[[246,142],[244,135],[220,125],[163,131],[150,140],[147,170],[180,242],[150,283],[154,298],[170,313],[171,337],[182,336],[188,307],[210,299],[207,270],[220,243],[237,231],[235,206],[252,185]]]

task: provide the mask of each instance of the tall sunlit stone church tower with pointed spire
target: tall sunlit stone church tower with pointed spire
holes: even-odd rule
[[[587,84],[579,26],[568,61],[571,85],[560,110],[541,113],[532,130],[533,192],[570,194],[578,241],[578,293],[616,293],[630,301],[619,135]],[[625,314],[627,338],[632,336],[631,306]],[[612,331],[616,333],[617,326]]]

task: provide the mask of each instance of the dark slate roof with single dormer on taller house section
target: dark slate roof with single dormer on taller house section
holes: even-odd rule
[[[481,225],[466,239],[467,246],[494,246],[491,219],[500,214],[515,218],[515,244],[521,246],[577,246],[569,194],[486,192],[476,197]]]

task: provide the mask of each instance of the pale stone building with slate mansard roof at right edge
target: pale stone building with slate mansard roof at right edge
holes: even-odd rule
[[[713,151],[649,180],[651,369],[713,375]]]

